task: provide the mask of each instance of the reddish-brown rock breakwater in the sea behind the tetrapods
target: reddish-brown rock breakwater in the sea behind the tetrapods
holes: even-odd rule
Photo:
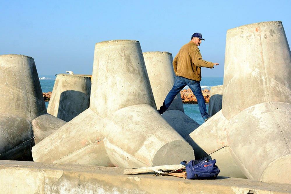
[[[182,102],[184,104],[197,104],[197,99],[191,89],[184,89],[180,91]],[[203,97],[205,99],[206,103],[209,103],[210,98],[210,90],[204,89],[202,90]],[[50,97],[52,95],[52,92],[43,92],[43,98],[46,102],[50,101]]]

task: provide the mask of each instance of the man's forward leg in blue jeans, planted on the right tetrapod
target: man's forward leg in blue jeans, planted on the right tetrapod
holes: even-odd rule
[[[185,78],[185,80],[186,80],[186,78]],[[195,95],[201,116],[205,120],[206,118],[209,117],[209,114],[207,113],[205,100],[204,100],[204,97],[203,97],[202,92],[201,92],[200,81],[187,79],[186,82],[187,82],[187,85],[189,86],[189,88],[192,90],[193,94]]]

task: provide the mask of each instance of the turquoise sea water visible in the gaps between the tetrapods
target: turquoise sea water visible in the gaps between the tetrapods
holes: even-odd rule
[[[41,89],[43,92],[52,91],[54,87],[54,81],[56,76],[55,75],[39,75],[39,81],[41,85]],[[223,84],[223,77],[202,77],[200,81],[200,85],[202,89],[210,89],[212,86],[222,85]],[[185,89],[189,87],[186,86]],[[48,102],[45,102],[47,107]],[[188,117],[195,120],[197,123],[202,124],[204,123],[198,105],[197,104],[183,104],[184,112]],[[208,111],[208,103],[206,104],[206,108]]]

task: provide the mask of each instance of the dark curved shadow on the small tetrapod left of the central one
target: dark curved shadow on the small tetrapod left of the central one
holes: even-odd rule
[[[78,114],[89,108],[90,94],[80,91],[66,90],[61,93],[58,118],[69,122]]]

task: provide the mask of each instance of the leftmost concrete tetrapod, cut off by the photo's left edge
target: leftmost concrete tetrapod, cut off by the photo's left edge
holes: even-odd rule
[[[0,56],[0,158],[25,160],[31,147],[66,122],[47,114],[32,57]]]

